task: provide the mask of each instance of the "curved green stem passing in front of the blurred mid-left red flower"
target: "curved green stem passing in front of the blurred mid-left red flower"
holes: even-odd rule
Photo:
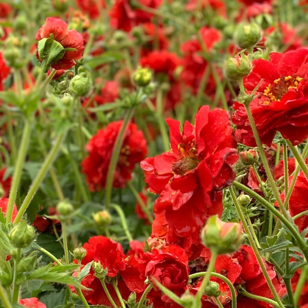
[[[109,168],[107,173],[106,189],[105,189],[105,206],[107,209],[109,208],[109,204],[111,201],[111,191],[112,191],[112,184],[115,175],[116,165],[119,160],[120,151],[126,134],[126,129],[130,123],[130,120],[132,119],[132,115],[133,115],[133,109],[129,109],[124,116],[121,129],[118,133],[118,136],[115,140],[115,144],[112,149],[111,160],[109,163]]]

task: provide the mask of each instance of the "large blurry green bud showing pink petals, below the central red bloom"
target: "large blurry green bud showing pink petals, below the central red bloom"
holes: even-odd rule
[[[234,252],[241,245],[243,232],[241,225],[223,222],[217,215],[209,217],[201,232],[203,244],[217,254]]]

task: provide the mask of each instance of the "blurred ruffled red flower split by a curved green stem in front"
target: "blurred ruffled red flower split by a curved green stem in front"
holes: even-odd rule
[[[123,121],[111,122],[106,128],[100,129],[87,144],[89,156],[82,162],[82,170],[87,176],[91,191],[105,187],[112,148]],[[120,157],[115,170],[114,187],[124,187],[131,179],[135,164],[147,154],[146,140],[136,124],[129,124]]]

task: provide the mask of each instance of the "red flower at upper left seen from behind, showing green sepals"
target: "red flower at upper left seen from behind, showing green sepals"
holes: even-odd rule
[[[83,37],[76,30],[67,30],[67,23],[59,18],[47,17],[35,39],[39,41],[36,58],[46,61],[56,70],[68,70],[82,57]]]

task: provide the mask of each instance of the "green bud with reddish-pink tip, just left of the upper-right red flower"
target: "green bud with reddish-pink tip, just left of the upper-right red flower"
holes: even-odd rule
[[[251,62],[244,54],[236,58],[229,58],[227,60],[227,77],[230,80],[240,80],[249,75],[252,70]]]

